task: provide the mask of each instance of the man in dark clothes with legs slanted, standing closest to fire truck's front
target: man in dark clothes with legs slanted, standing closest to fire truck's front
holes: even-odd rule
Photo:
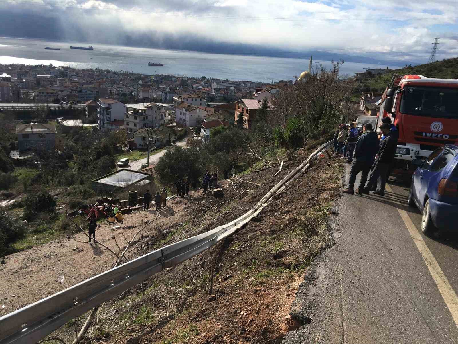
[[[369,194],[369,190],[378,180],[378,189],[374,191],[374,194],[380,196],[385,195],[385,183],[387,182],[387,172],[394,161],[394,155],[396,155],[396,148],[398,140],[395,136],[389,135],[391,126],[388,123],[383,123],[379,128],[382,130],[382,134],[386,138],[380,141],[380,147],[378,150],[378,157],[372,166],[372,172],[369,175],[369,181],[362,190],[363,194]]]

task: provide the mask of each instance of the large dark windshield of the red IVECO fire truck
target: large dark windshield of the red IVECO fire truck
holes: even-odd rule
[[[404,88],[401,112],[410,115],[458,118],[458,89],[439,87]]]

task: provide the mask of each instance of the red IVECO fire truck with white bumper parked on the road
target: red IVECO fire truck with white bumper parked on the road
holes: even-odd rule
[[[409,178],[416,168],[413,159],[425,159],[437,147],[457,143],[458,80],[394,74],[382,95],[377,130],[386,116],[399,130],[392,173]]]

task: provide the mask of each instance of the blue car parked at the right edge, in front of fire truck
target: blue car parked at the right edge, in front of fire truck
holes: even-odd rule
[[[434,230],[457,229],[458,214],[458,146],[436,149],[425,161],[414,159],[419,166],[410,186],[409,206],[423,212],[421,231],[425,235]]]

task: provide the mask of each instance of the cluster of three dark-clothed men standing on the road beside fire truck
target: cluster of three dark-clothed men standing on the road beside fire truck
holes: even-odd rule
[[[373,191],[373,194],[385,195],[385,184],[393,167],[399,131],[390,117],[382,119],[379,129],[382,131],[380,140],[371,123],[364,125],[363,133],[357,138],[348,188],[343,191],[345,194],[354,194],[356,176],[361,172],[360,185],[356,190],[358,194],[369,194],[369,191]]]

